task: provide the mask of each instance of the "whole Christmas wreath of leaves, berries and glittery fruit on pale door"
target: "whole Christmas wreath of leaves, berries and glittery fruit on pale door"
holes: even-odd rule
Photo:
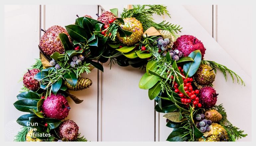
[[[66,97],[76,104],[82,100],[68,91],[92,85],[87,74],[93,68],[103,72],[100,63],[110,60],[120,66],[144,69],[139,88],[148,90],[157,112],[166,113],[166,126],[173,128],[167,141],[235,141],[245,137],[233,126],[222,105],[215,105],[217,92],[212,82],[217,70],[225,79],[243,80],[226,66],[204,60],[205,47],[195,36],[178,36],[179,25],[155,23],[152,15],[169,15],[162,5],[134,5],[85,15],[74,24],[52,26],[40,39],[40,59],[24,74],[24,87],[16,109],[28,114],[17,122],[23,126],[15,141],[87,141],[72,120],[64,120],[70,107]]]

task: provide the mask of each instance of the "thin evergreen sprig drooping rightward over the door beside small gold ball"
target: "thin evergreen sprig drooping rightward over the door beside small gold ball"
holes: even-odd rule
[[[235,76],[237,79],[237,83],[240,84],[240,81],[241,81],[241,85],[245,86],[245,83],[242,80],[242,78],[232,70],[228,69],[226,66],[218,64],[215,61],[202,60],[201,62],[202,64],[209,64],[211,68],[214,69],[215,73],[216,73],[216,68],[219,69],[219,71],[221,71],[222,74],[224,75],[226,81],[227,81],[227,73],[228,73],[231,76],[233,83],[234,83],[234,76]]]

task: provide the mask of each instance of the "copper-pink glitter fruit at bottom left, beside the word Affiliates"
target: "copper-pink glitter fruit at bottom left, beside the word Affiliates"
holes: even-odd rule
[[[78,136],[79,127],[72,120],[63,121],[58,128],[58,135],[62,138],[67,138],[69,141],[75,140]]]

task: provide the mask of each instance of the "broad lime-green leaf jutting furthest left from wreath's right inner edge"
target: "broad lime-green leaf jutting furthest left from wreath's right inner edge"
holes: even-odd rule
[[[139,82],[139,88],[140,89],[150,89],[152,88],[154,85],[156,85],[156,83],[158,82],[159,77],[155,76],[155,75],[148,75],[147,73],[145,73]]]

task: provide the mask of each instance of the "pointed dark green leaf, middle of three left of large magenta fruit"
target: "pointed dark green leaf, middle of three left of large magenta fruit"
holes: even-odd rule
[[[29,109],[37,109],[37,101],[32,99],[18,100],[13,105],[16,109],[24,112],[30,112]]]

